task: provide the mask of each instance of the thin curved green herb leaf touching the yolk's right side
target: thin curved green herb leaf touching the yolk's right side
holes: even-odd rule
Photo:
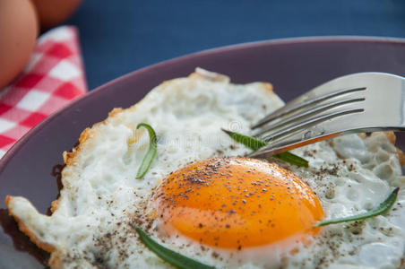
[[[320,221],[314,225],[315,227],[319,226],[325,226],[329,224],[335,224],[335,223],[340,223],[340,222],[348,222],[348,221],[361,221],[365,220],[371,217],[375,217],[378,215],[381,215],[383,213],[386,213],[390,210],[392,207],[392,204],[395,203],[395,200],[397,199],[398,192],[400,191],[400,187],[394,188],[392,191],[391,195],[389,195],[383,203],[379,204],[375,209],[370,210],[369,212],[366,213],[361,213],[358,215],[354,215],[351,217],[346,217],[346,218],[340,218],[340,219],[334,219],[334,220],[327,220],[327,221]]]

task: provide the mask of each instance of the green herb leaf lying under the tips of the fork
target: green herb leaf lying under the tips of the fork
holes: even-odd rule
[[[246,147],[251,148],[252,150],[254,150],[254,152],[267,144],[263,140],[257,139],[252,136],[248,136],[245,134],[238,134],[236,132],[231,132],[225,129],[222,129],[222,131],[227,133],[230,136],[230,138],[232,138],[236,142],[243,143],[244,145],[246,145]],[[308,161],[291,152],[281,152],[278,154],[274,154],[272,157],[280,159],[281,161],[286,161],[291,164],[295,164],[299,167],[308,167]]]

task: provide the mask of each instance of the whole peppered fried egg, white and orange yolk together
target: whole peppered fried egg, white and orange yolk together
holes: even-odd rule
[[[63,189],[52,215],[7,196],[20,229],[51,252],[53,268],[171,267],[145,247],[152,239],[218,268],[396,268],[405,252],[405,192],[392,211],[365,213],[404,187],[403,156],[392,133],[350,134],[298,148],[299,168],[250,152],[221,128],[251,134],[282,100],[266,82],[233,84],[197,69],[163,82],[132,108],[116,108],[65,152]],[[151,125],[158,152],[137,179]]]

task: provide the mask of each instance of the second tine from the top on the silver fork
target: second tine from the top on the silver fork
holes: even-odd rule
[[[345,105],[345,104],[364,101],[364,100],[366,100],[366,99],[365,98],[356,98],[356,99],[337,100],[337,101],[333,101],[332,103],[321,104],[315,108],[309,108],[308,110],[306,110],[303,113],[293,114],[290,117],[287,117],[284,120],[280,120],[279,122],[277,122],[273,125],[266,126],[262,130],[260,130],[259,133],[254,134],[254,136],[255,137],[262,136],[262,134],[269,133],[271,131],[275,131],[277,129],[280,129],[283,126],[289,126],[289,124],[293,124],[297,120],[300,120],[300,119],[303,120],[306,117],[313,116],[315,114],[319,114],[319,113],[326,111],[328,109],[331,109],[331,108],[337,108],[337,107]]]

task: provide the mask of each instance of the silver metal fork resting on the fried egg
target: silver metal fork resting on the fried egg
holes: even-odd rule
[[[251,157],[267,157],[340,134],[405,131],[405,78],[349,74],[289,101],[254,124],[268,144]]]

